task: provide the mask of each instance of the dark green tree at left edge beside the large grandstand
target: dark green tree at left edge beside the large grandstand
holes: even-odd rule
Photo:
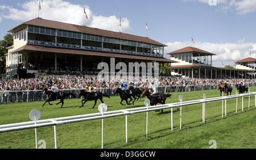
[[[7,47],[13,45],[13,34],[7,33],[3,40],[0,40],[0,74],[5,73],[5,54],[8,53]]]

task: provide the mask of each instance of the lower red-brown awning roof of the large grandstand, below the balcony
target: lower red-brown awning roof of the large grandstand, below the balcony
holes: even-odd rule
[[[76,49],[52,48],[52,47],[44,47],[40,45],[28,45],[28,44],[14,50],[13,52],[18,52],[21,50],[32,50],[32,51],[52,52],[52,53],[67,53],[67,54],[82,54],[82,55],[88,55],[88,56],[128,58],[128,59],[134,59],[134,60],[158,61],[158,62],[167,62],[167,63],[176,62],[176,61],[169,60],[167,58],[135,56],[135,55],[127,55],[127,54],[119,54],[119,53],[93,52],[93,51],[76,50]]]

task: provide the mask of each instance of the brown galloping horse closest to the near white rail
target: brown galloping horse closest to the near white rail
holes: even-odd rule
[[[147,96],[147,98],[150,100],[151,106],[156,106],[156,104],[158,104],[158,103],[166,104],[166,99],[171,98],[172,95],[171,94],[163,94],[163,93],[151,95],[150,91],[144,90],[142,93],[142,98],[144,96]],[[163,110],[161,110],[161,112],[163,112]]]

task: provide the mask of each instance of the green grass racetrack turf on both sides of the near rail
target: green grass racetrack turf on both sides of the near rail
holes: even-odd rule
[[[251,87],[256,91],[256,87]],[[203,93],[207,98],[219,96],[220,92],[196,91],[173,93],[167,103],[177,102],[179,95],[184,101],[201,99]],[[236,92],[235,90],[233,91]],[[241,99],[227,101],[228,116],[221,118],[221,101],[206,104],[206,123],[201,123],[201,104],[183,107],[182,129],[179,129],[179,112],[174,110],[174,132],[170,127],[170,110],[164,113],[150,112],[148,115],[148,138],[146,138],[146,113],[128,116],[128,144],[125,143],[125,116],[104,120],[105,148],[209,148],[209,141],[215,140],[217,148],[256,148],[256,110],[254,96],[251,97],[248,109],[248,98],[245,98],[244,112],[241,112]],[[143,106],[143,100],[135,106],[121,106],[119,97],[105,98],[108,111],[122,110]],[[63,116],[82,115],[98,112],[92,109],[93,102],[79,108],[81,99],[65,100],[64,108],[46,106],[43,102],[15,103],[0,105],[0,125],[30,121],[28,114],[33,109],[41,112],[41,119]],[[100,102],[98,102],[100,104]],[[97,106],[98,106],[97,104]],[[53,127],[39,128],[38,140],[46,141],[46,148],[54,148]],[[57,126],[57,141],[59,148],[101,148],[101,120]],[[0,148],[35,148],[34,129],[17,132],[0,133]]]

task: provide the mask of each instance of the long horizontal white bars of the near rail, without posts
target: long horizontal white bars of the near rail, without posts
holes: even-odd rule
[[[218,100],[234,99],[234,98],[250,96],[250,95],[256,95],[256,92],[250,92],[250,93],[238,94],[238,95],[229,95],[229,96],[216,97],[216,98],[208,98],[208,99],[189,100],[187,102],[182,102],[182,103],[177,102],[177,103],[170,103],[170,104],[162,104],[162,105],[158,105],[158,106],[150,106],[150,107],[148,107],[148,109],[147,109],[147,107],[139,107],[139,108],[133,108],[133,109],[128,109],[128,110],[110,111],[110,112],[105,112],[103,116],[101,113],[92,113],[92,114],[87,114],[87,115],[68,116],[68,117],[59,117],[59,118],[55,118],[55,119],[38,120],[38,121],[36,121],[36,124],[34,124],[33,121],[28,121],[28,122],[23,122],[23,123],[6,124],[6,125],[0,125],[0,133],[12,132],[15,130],[48,127],[48,126],[53,126],[53,125],[78,123],[81,121],[106,119],[106,118],[117,117],[117,116],[134,115],[137,113],[166,110],[166,109],[170,109],[170,108],[191,106],[193,104],[209,103],[209,102],[214,102],[214,101],[218,101]]]

